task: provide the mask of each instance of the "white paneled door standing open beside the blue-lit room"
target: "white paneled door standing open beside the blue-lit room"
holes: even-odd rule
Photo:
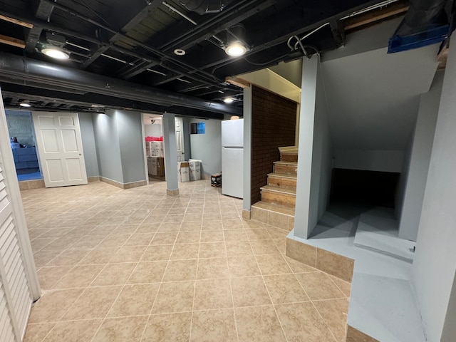
[[[34,112],[33,125],[46,187],[87,184],[78,113]]]

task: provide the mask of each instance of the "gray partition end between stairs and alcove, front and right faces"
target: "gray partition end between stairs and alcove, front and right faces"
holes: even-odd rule
[[[294,232],[308,239],[326,211],[333,158],[326,92],[318,56],[303,60],[299,169]]]

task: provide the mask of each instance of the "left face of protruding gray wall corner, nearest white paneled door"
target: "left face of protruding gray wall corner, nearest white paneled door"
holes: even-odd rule
[[[115,110],[93,115],[93,133],[101,177],[123,183],[122,160]]]

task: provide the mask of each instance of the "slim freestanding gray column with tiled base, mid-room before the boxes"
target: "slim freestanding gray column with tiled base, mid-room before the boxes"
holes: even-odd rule
[[[165,113],[163,115],[166,194],[169,196],[179,195],[179,186],[177,185],[176,128],[174,119],[174,114]]]

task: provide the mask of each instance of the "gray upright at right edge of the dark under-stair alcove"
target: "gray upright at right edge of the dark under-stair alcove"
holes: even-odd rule
[[[415,134],[413,135],[410,165],[399,224],[399,237],[412,241],[416,241],[420,225],[442,83],[443,72],[437,71],[429,92],[420,96],[420,109],[418,110]]]

